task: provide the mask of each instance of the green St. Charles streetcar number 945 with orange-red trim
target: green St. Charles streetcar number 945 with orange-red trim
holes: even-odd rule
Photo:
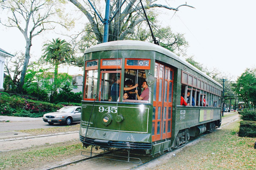
[[[135,40],[95,45],[85,51],[84,70],[79,138],[85,147],[154,156],[221,124],[222,86],[161,46]],[[141,100],[145,87],[149,97]],[[181,105],[181,96],[189,106]]]

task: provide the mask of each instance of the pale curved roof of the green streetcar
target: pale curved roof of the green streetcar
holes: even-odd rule
[[[101,43],[95,46],[92,46],[85,50],[86,53],[92,52],[99,52],[99,51],[107,51],[107,50],[149,50],[158,53],[162,53],[166,56],[173,58],[174,60],[179,61],[180,63],[190,67],[190,69],[195,70],[199,74],[202,74],[207,79],[213,81],[214,83],[218,84],[220,87],[221,84],[217,81],[213,80],[209,75],[205,74],[201,70],[197,69],[195,66],[188,63],[184,58],[179,57],[178,55],[174,54],[170,50],[167,50],[164,47],[158,46],[153,43],[148,43],[145,41],[138,41],[138,40],[118,40],[118,41],[110,41],[107,43]]]

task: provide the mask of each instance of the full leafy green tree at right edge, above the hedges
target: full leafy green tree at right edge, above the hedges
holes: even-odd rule
[[[246,69],[236,83],[233,83],[233,87],[247,106],[256,106],[256,69]]]

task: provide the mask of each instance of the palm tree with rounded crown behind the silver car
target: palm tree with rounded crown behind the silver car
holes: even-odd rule
[[[73,50],[71,45],[67,43],[65,40],[61,40],[60,38],[52,39],[52,42],[44,45],[44,55],[42,56],[43,60],[47,63],[54,65],[54,78],[53,78],[53,86],[54,90],[51,94],[50,101],[52,102],[53,96],[57,92],[56,83],[58,68],[60,64],[70,62],[73,54]]]

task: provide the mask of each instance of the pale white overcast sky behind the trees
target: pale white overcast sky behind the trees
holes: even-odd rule
[[[161,9],[158,21],[163,26],[169,25],[173,32],[183,33],[189,43],[186,55],[194,56],[194,60],[204,67],[218,69],[231,80],[236,80],[246,68],[256,67],[256,1],[161,0],[157,3],[171,7],[187,3],[195,7],[182,6],[175,13]],[[73,6],[70,5],[71,10],[75,10]],[[13,54],[25,50],[25,39],[17,28],[0,25],[0,35],[0,48],[6,52]],[[44,33],[35,37],[31,54],[41,53],[43,44],[54,36]],[[83,74],[82,69],[70,68],[68,72],[73,74],[70,70]]]

